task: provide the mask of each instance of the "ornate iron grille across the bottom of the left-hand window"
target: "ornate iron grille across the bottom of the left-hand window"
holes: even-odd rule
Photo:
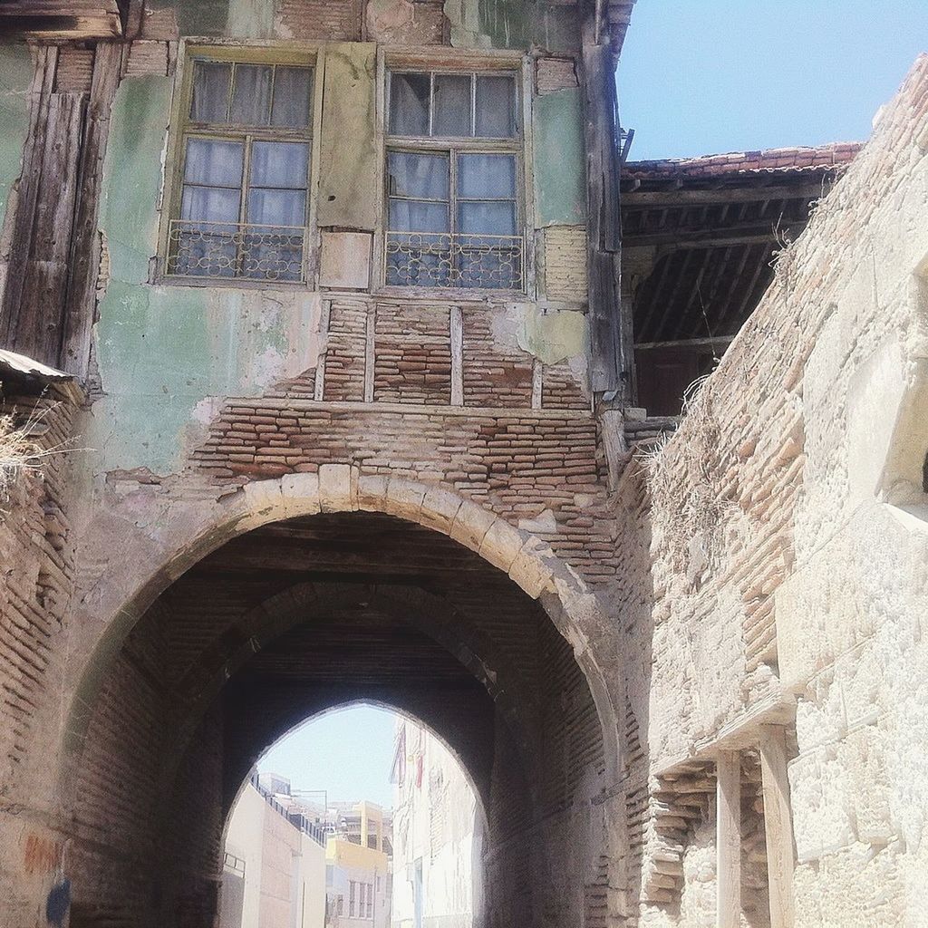
[[[305,280],[303,226],[255,226],[174,219],[167,272],[175,277]]]

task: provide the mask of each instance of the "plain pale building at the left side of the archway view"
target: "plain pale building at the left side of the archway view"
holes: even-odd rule
[[[287,780],[252,776],[226,833],[219,928],[321,928],[325,912],[325,833]]]

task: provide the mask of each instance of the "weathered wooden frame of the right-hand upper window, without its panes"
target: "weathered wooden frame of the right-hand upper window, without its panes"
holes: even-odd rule
[[[439,138],[393,136],[389,133],[390,73],[420,72],[492,76],[509,74],[515,78],[519,111],[516,114],[518,135],[515,138],[484,139],[474,136]],[[534,299],[535,281],[535,193],[532,144],[532,60],[521,52],[441,50],[412,51],[390,45],[381,46],[377,59],[377,143],[380,170],[379,221],[374,235],[377,270],[372,288],[375,295],[401,296],[416,302],[453,300],[456,303],[512,302]],[[522,234],[522,287],[519,289],[483,289],[477,287],[397,286],[386,282],[386,248],[388,217],[387,155],[406,150],[423,154],[463,151],[475,154],[514,154],[516,160],[516,229]],[[453,156],[452,156],[453,158]],[[449,177],[454,183],[454,177]],[[449,210],[454,198],[449,190]],[[450,217],[449,217],[450,219]],[[449,224],[450,225],[450,224]]]

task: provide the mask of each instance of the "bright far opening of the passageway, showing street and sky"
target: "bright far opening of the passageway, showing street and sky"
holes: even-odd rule
[[[351,702],[290,729],[226,818],[219,928],[481,928],[483,799],[432,728]]]

